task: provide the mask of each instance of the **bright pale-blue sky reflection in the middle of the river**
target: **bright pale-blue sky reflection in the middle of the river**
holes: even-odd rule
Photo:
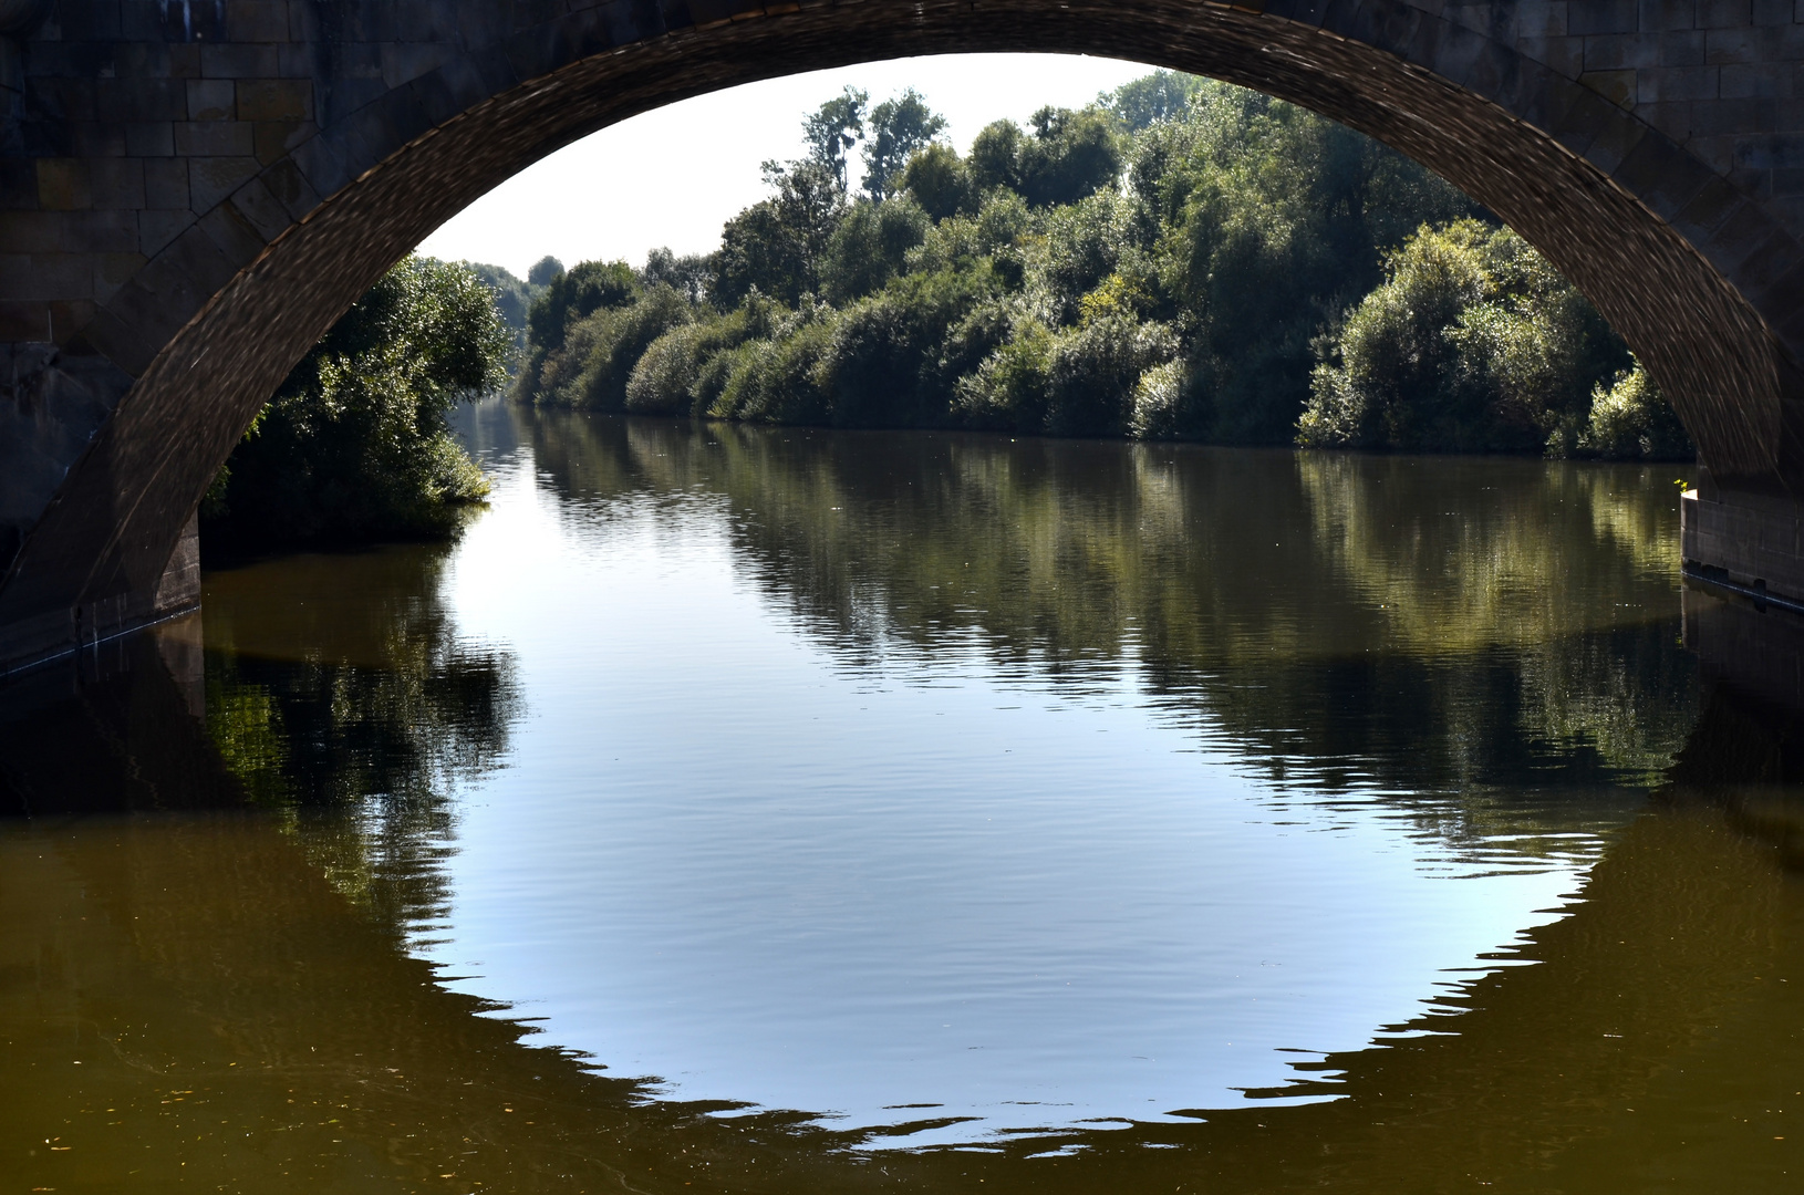
[[[1131,642],[1055,680],[960,627],[848,652],[729,499],[491,467],[446,597],[529,714],[419,950],[673,1098],[972,1117],[907,1145],[1241,1103],[1496,966],[1598,849],[1274,782]]]

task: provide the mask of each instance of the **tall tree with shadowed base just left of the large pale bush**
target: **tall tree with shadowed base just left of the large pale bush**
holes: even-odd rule
[[[1472,211],[1376,142],[1216,83],[1138,139],[1129,178],[1133,236],[1187,339],[1183,434],[1230,443],[1293,434],[1312,341],[1378,283],[1385,229]]]

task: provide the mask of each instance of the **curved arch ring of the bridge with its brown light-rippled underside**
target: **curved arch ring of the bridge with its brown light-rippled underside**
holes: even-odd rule
[[[325,119],[330,88],[314,83],[318,144],[267,169],[262,191],[220,202],[61,346],[90,373],[132,380],[25,537],[0,586],[0,631],[22,629],[14,640],[41,654],[170,606],[182,528],[289,368],[399,256],[498,182],[676,99],[913,54],[1137,59],[1369,133],[1488,205],[1598,305],[1672,395],[1717,483],[1804,492],[1791,348],[1804,339],[1791,272],[1804,252],[1791,234],[1633,112],[1414,4],[714,0],[747,11],[676,29],[666,14],[649,36],[622,7],[651,11],[615,4],[502,31],[336,119]],[[332,47],[316,59],[328,72]],[[332,177],[321,146],[337,155],[336,189],[310,187]]]

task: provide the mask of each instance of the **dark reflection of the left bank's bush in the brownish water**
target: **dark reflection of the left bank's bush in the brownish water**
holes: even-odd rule
[[[446,905],[453,791],[520,714],[512,660],[438,595],[446,550],[289,557],[209,579],[207,730],[334,887],[388,925]]]

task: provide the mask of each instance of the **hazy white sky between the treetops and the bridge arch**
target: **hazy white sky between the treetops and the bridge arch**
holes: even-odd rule
[[[1043,105],[1077,108],[1151,67],[1054,54],[904,58],[750,83],[604,128],[514,175],[426,238],[420,252],[489,261],[525,276],[649,249],[707,252],[720,225],[765,195],[758,166],[801,157],[803,115],[848,83],[888,99],[904,87],[947,119],[960,153],[990,121],[1025,123]]]

